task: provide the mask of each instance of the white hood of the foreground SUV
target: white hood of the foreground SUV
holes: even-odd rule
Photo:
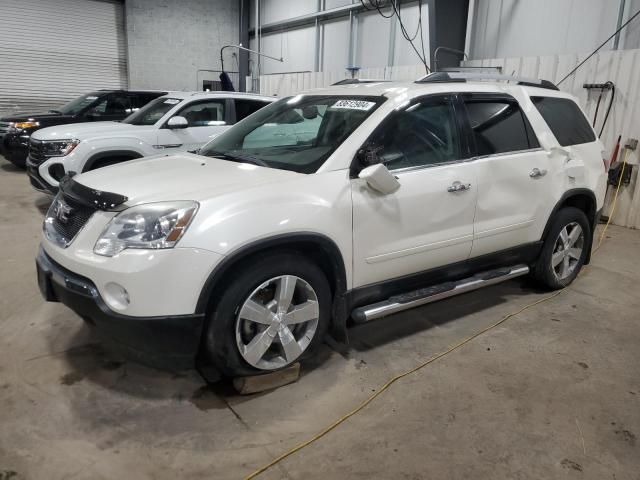
[[[154,156],[83,173],[86,187],[124,195],[127,205],[169,200],[205,201],[303,174],[191,153]],[[303,175],[306,176],[306,175]]]

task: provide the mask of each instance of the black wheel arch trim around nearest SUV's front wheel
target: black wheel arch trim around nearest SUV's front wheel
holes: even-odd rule
[[[319,233],[298,232],[276,235],[251,242],[233,251],[209,274],[198,297],[195,313],[203,314],[207,312],[216,286],[220,280],[230,272],[233,266],[237,265],[249,255],[279,247],[313,248],[316,252],[320,252],[322,259],[327,262],[327,264],[321,264],[320,267],[330,274],[331,278],[327,278],[327,280],[329,280],[333,290],[330,333],[336,340],[346,342],[346,321],[348,313],[345,313],[347,275],[344,259],[336,243],[329,237]]]

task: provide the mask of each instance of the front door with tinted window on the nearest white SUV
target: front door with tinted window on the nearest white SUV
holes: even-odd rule
[[[383,195],[352,180],[354,287],[468,258],[477,189],[458,131],[454,98],[428,96],[367,141],[400,188]]]

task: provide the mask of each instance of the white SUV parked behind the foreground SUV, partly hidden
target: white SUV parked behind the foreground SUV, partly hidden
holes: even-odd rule
[[[214,136],[275,101],[234,92],[171,92],[122,122],[58,125],[35,132],[29,142],[31,185],[56,193],[71,172],[82,173],[134,158],[196,150]]]

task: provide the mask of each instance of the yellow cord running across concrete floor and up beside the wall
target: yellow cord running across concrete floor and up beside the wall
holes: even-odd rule
[[[611,214],[609,215],[609,219],[607,220],[607,223],[604,227],[604,229],[602,230],[602,234],[600,235],[600,240],[598,241],[598,245],[596,246],[596,248],[594,249],[593,253],[595,253],[599,248],[600,245],[602,244],[602,240],[604,239],[604,235],[605,232],[607,231],[607,228],[609,227],[609,223],[611,222],[611,219],[613,218],[613,215],[615,213],[615,209],[616,209],[616,202],[618,200],[618,192],[620,190],[620,186],[622,185],[622,177],[624,174],[624,168],[627,164],[627,154],[628,154],[628,150],[625,151],[625,155],[624,155],[624,161],[622,163],[622,171],[620,172],[620,179],[618,180],[618,185],[616,187],[616,191],[615,191],[615,195],[613,197],[613,203],[611,206]],[[439,360],[440,358],[450,354],[451,352],[454,352],[455,350],[458,350],[459,348],[461,348],[462,346],[466,345],[467,343],[469,343],[470,341],[478,338],[480,335],[485,334],[486,332],[488,332],[489,330],[494,329],[495,327],[497,327],[498,325],[501,325],[502,323],[506,322],[507,320],[509,320],[512,317],[515,317],[516,315],[521,314],[522,312],[524,312],[525,310],[528,310],[529,308],[535,307],[536,305],[539,305],[543,302],[546,302],[547,300],[551,300],[554,297],[557,297],[558,295],[560,295],[561,293],[563,293],[564,290],[558,290],[556,292],[553,292],[550,295],[547,295],[539,300],[536,300],[535,302],[529,303],[528,305],[525,305],[524,307],[520,308],[519,310],[516,310],[515,312],[509,313],[508,315],[502,317],[499,321],[495,322],[492,325],[489,325],[486,328],[483,328],[482,330],[480,330],[477,333],[474,333],[473,335],[471,335],[470,337],[465,338],[464,340],[462,340],[461,342],[457,343],[456,345],[450,347],[449,349],[440,352],[436,355],[434,355],[433,357],[429,358],[428,360],[420,363],[418,366],[412,368],[411,370],[407,370],[404,373],[400,373],[398,375],[396,375],[395,377],[392,377],[389,381],[387,381],[387,383],[385,383],[384,385],[382,385],[382,387],[380,387],[373,395],[371,395],[369,398],[367,398],[366,400],[364,400],[360,405],[358,405],[356,408],[354,408],[353,410],[351,410],[349,413],[347,413],[346,415],[343,415],[342,417],[338,418],[335,422],[333,422],[331,425],[325,427],[323,430],[321,430],[320,432],[316,433],[314,436],[312,436],[311,438],[309,438],[308,440],[305,440],[304,442],[296,445],[295,447],[293,447],[292,449],[290,449],[289,451],[283,453],[282,455],[280,455],[279,457],[273,459],[271,462],[269,462],[268,464],[260,467],[259,469],[257,469],[255,472],[251,473],[249,476],[247,476],[245,478],[245,480],[251,480],[252,478],[257,477],[258,475],[260,475],[261,473],[265,472],[266,470],[268,470],[269,468],[273,467],[274,465],[280,463],[282,460],[284,460],[285,458],[293,455],[294,453],[302,450],[303,448],[307,447],[308,445],[312,444],[313,442],[315,442],[316,440],[319,440],[320,438],[324,437],[327,433],[329,433],[331,430],[333,430],[334,428],[336,428],[338,425],[342,424],[343,422],[345,422],[346,420],[348,420],[349,418],[351,418],[352,416],[354,416],[356,413],[360,412],[362,409],[364,409],[367,405],[369,405],[371,402],[373,402],[376,398],[378,398],[385,390],[387,390],[391,385],[393,385],[395,382],[397,382],[398,380],[400,380],[401,378],[404,378],[406,376],[409,376],[415,372],[417,372],[418,370],[426,367],[427,365],[435,362],[436,360]]]

